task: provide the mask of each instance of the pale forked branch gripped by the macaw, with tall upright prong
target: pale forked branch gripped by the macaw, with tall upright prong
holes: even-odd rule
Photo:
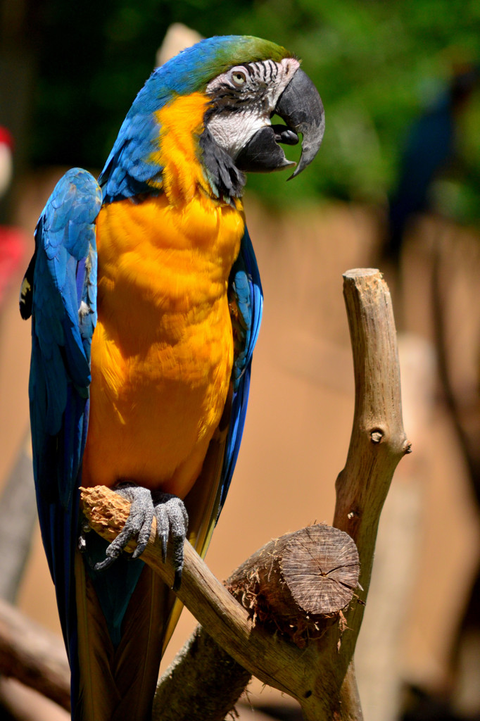
[[[396,333],[388,288],[378,270],[350,270],[344,275],[344,280],[356,392],[347,464],[337,479],[334,525],[350,534],[357,543],[363,589],[360,598],[355,597],[345,612],[339,611],[335,622],[324,629],[319,639],[310,640],[303,650],[299,650],[285,634],[272,635],[264,624],[254,624],[246,609],[236,603],[213,577],[189,544],[185,544],[184,578],[178,594],[200,623],[208,628],[213,639],[236,660],[236,667],[233,667],[236,678],[241,677],[243,671],[240,667],[244,667],[264,683],[293,696],[301,704],[306,721],[360,721],[362,718],[353,652],[370,584],[381,508],[396,465],[410,451],[401,422]],[[98,487],[89,489],[87,495],[84,491],[82,497],[89,522],[111,540],[123,527],[128,504],[112,492]],[[94,508],[96,521],[92,520]],[[256,554],[256,561],[260,555],[260,552]],[[172,585],[172,570],[161,563],[154,532],[143,560]],[[252,570],[253,563],[246,562],[244,566]],[[241,583],[238,583],[239,576],[243,578]],[[239,596],[249,598],[246,605],[252,606],[252,594],[249,595],[248,583],[245,585],[249,573],[242,575],[237,571],[233,580]],[[252,608],[259,616],[258,604]],[[175,699],[184,695],[185,684],[195,676],[192,668],[205,669],[207,657],[202,657],[197,650],[206,634],[203,629],[196,633],[196,640],[190,644],[190,648],[195,645],[195,659],[192,660],[192,653],[184,650],[182,661],[175,664],[174,673],[166,674],[169,704],[161,704],[163,708],[156,716],[162,721],[191,717],[192,707],[182,706],[181,703],[178,706]],[[222,654],[213,650],[208,658],[215,665],[215,658],[224,658]],[[194,664],[186,675],[182,673],[182,668],[187,668],[185,662]],[[215,666],[214,675],[218,673],[219,677],[222,676],[221,665]],[[174,678],[177,679],[176,684]],[[231,684],[231,677],[227,684],[220,685],[225,687],[228,684]],[[238,689],[235,684],[231,685],[236,689],[231,695],[233,705]],[[189,704],[194,703],[193,696],[189,695],[189,699]],[[172,702],[175,707],[173,715],[169,713]],[[224,699],[221,709],[210,709],[201,717],[220,721],[223,715]]]

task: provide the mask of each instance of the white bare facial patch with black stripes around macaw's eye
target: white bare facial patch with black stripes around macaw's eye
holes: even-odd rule
[[[236,158],[260,128],[271,125],[270,115],[299,66],[295,58],[246,63],[210,81],[206,92],[216,107],[207,127],[231,158]]]

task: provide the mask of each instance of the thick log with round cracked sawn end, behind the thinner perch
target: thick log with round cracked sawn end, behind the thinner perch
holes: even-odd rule
[[[349,536],[319,524],[270,541],[231,575],[227,585],[254,624],[261,622],[272,634],[285,632],[295,645],[305,647],[307,637],[321,637],[325,627],[339,620],[358,572],[357,549]],[[306,578],[313,593],[306,589]],[[152,719],[222,720],[250,677],[199,626],[160,679]]]

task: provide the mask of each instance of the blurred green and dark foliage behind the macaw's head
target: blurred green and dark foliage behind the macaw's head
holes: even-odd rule
[[[45,0],[37,22],[35,164],[102,166],[172,22],[293,50],[319,88],[326,134],[314,166],[295,182],[285,174],[249,179],[273,204],[319,195],[383,200],[411,120],[445,87],[453,63],[480,59],[478,0]],[[465,192],[450,196],[475,216],[478,93],[462,123]]]

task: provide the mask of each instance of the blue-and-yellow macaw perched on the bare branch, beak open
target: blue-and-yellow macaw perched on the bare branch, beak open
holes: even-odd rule
[[[262,314],[244,172],[292,167],[278,143],[302,133],[298,174],[323,132],[293,55],[212,37],[154,71],[98,183],[67,172],[40,216],[20,309],[32,315],[37,504],[75,720],[149,717],[179,604],[138,556],[153,516],[176,585],[185,537],[205,554],[244,428]],[[80,485],[132,502],[110,546],[82,530]]]

